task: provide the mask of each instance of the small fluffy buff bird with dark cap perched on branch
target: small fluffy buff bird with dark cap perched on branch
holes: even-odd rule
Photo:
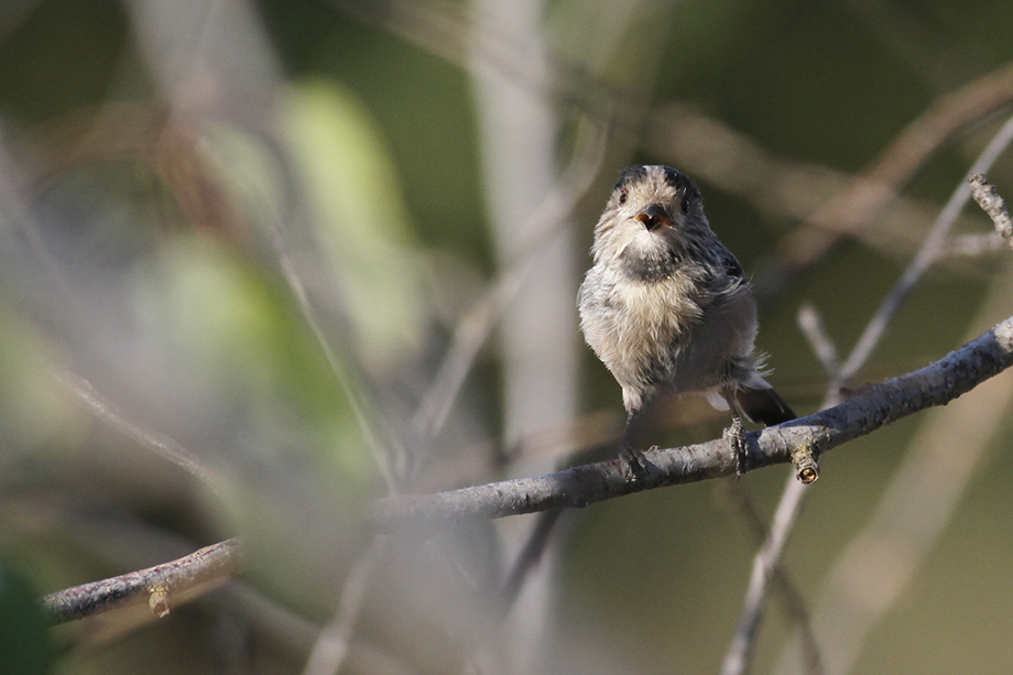
[[[756,302],[742,265],[711,231],[696,185],[668,166],[624,170],[591,254],[577,298],[580,328],[622,387],[620,455],[634,480],[645,468],[633,449],[638,416],[661,395],[689,392],[731,410],[725,437],[744,472],[742,415],[774,425],[795,413],[761,374]]]

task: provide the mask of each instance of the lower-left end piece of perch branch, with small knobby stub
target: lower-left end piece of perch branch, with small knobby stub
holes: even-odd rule
[[[238,540],[226,540],[188,556],[119,577],[92,581],[51,594],[42,600],[43,613],[53,623],[146,601],[152,613],[168,614],[171,603],[189,600],[228,581],[239,569]]]

